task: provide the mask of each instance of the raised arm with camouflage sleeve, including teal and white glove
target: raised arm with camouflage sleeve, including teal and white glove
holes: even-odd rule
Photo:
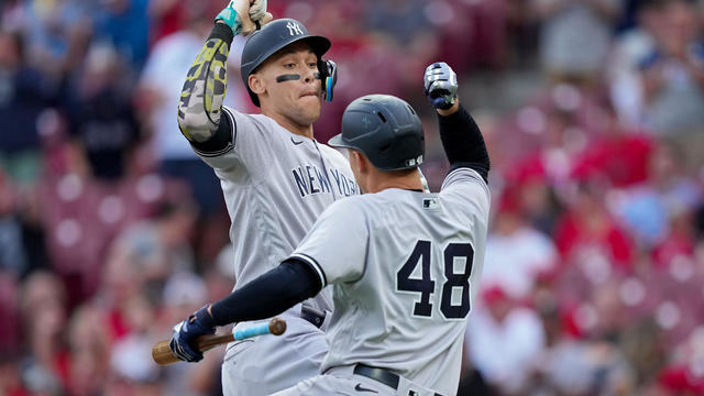
[[[244,18],[242,18],[244,15]],[[234,144],[234,125],[222,117],[228,82],[230,44],[250,16],[257,24],[271,20],[266,1],[232,0],[216,16],[216,24],[194,61],[178,103],[178,127],[190,144],[202,153],[218,153]]]

